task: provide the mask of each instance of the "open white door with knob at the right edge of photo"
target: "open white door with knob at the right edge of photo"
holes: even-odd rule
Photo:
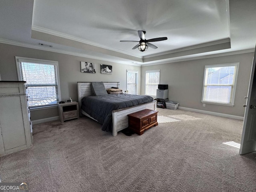
[[[246,154],[256,151],[256,51],[252,62],[252,73],[248,89],[248,98],[244,114],[241,147],[239,153]]]

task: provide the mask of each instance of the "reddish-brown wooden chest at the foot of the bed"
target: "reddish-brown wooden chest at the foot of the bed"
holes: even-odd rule
[[[145,130],[157,126],[158,111],[144,109],[132,114],[128,114],[129,128],[136,134],[142,135]]]

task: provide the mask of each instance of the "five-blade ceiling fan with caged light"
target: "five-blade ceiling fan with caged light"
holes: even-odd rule
[[[129,41],[129,40],[124,40],[124,41],[120,41],[120,42],[139,42],[139,44],[137,44],[136,46],[134,46],[132,49],[136,49],[138,48],[138,50],[140,50],[141,52],[146,51],[148,49],[148,47],[151,47],[153,49],[157,49],[157,46],[149,43],[149,42],[156,42],[156,41],[163,41],[163,40],[167,40],[167,37],[158,37],[158,38],[153,38],[153,39],[149,39],[146,40],[145,39],[145,34],[146,31],[138,31],[138,35],[140,37],[140,41]]]

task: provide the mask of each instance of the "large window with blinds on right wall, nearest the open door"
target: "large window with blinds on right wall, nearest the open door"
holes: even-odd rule
[[[239,63],[204,68],[202,102],[234,106]]]

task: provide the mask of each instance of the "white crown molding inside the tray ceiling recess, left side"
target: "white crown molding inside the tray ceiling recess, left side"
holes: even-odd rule
[[[139,56],[137,54],[132,54],[130,52],[122,51],[122,50],[119,50],[119,49],[113,49],[113,48],[110,48],[108,46],[104,46],[102,44],[91,42],[91,41],[88,41],[88,40],[85,40],[85,39],[82,39],[82,38],[78,38],[78,37],[71,36],[71,35],[68,35],[68,34],[64,34],[64,33],[61,33],[61,32],[57,32],[57,31],[54,31],[54,30],[50,30],[50,29],[46,29],[46,28],[42,28],[42,27],[38,27],[38,26],[34,26],[34,25],[32,26],[31,29],[34,30],[34,31],[38,31],[38,32],[58,36],[58,37],[61,37],[61,38],[70,39],[70,40],[73,40],[73,41],[81,42],[81,43],[84,43],[84,44],[89,44],[89,45],[92,45],[92,46],[108,49],[108,50],[111,50],[111,51],[115,51],[115,52],[119,52],[119,53],[122,53],[122,54],[126,54],[126,55],[130,55],[130,56],[134,56],[134,57],[143,59],[142,56]]]

